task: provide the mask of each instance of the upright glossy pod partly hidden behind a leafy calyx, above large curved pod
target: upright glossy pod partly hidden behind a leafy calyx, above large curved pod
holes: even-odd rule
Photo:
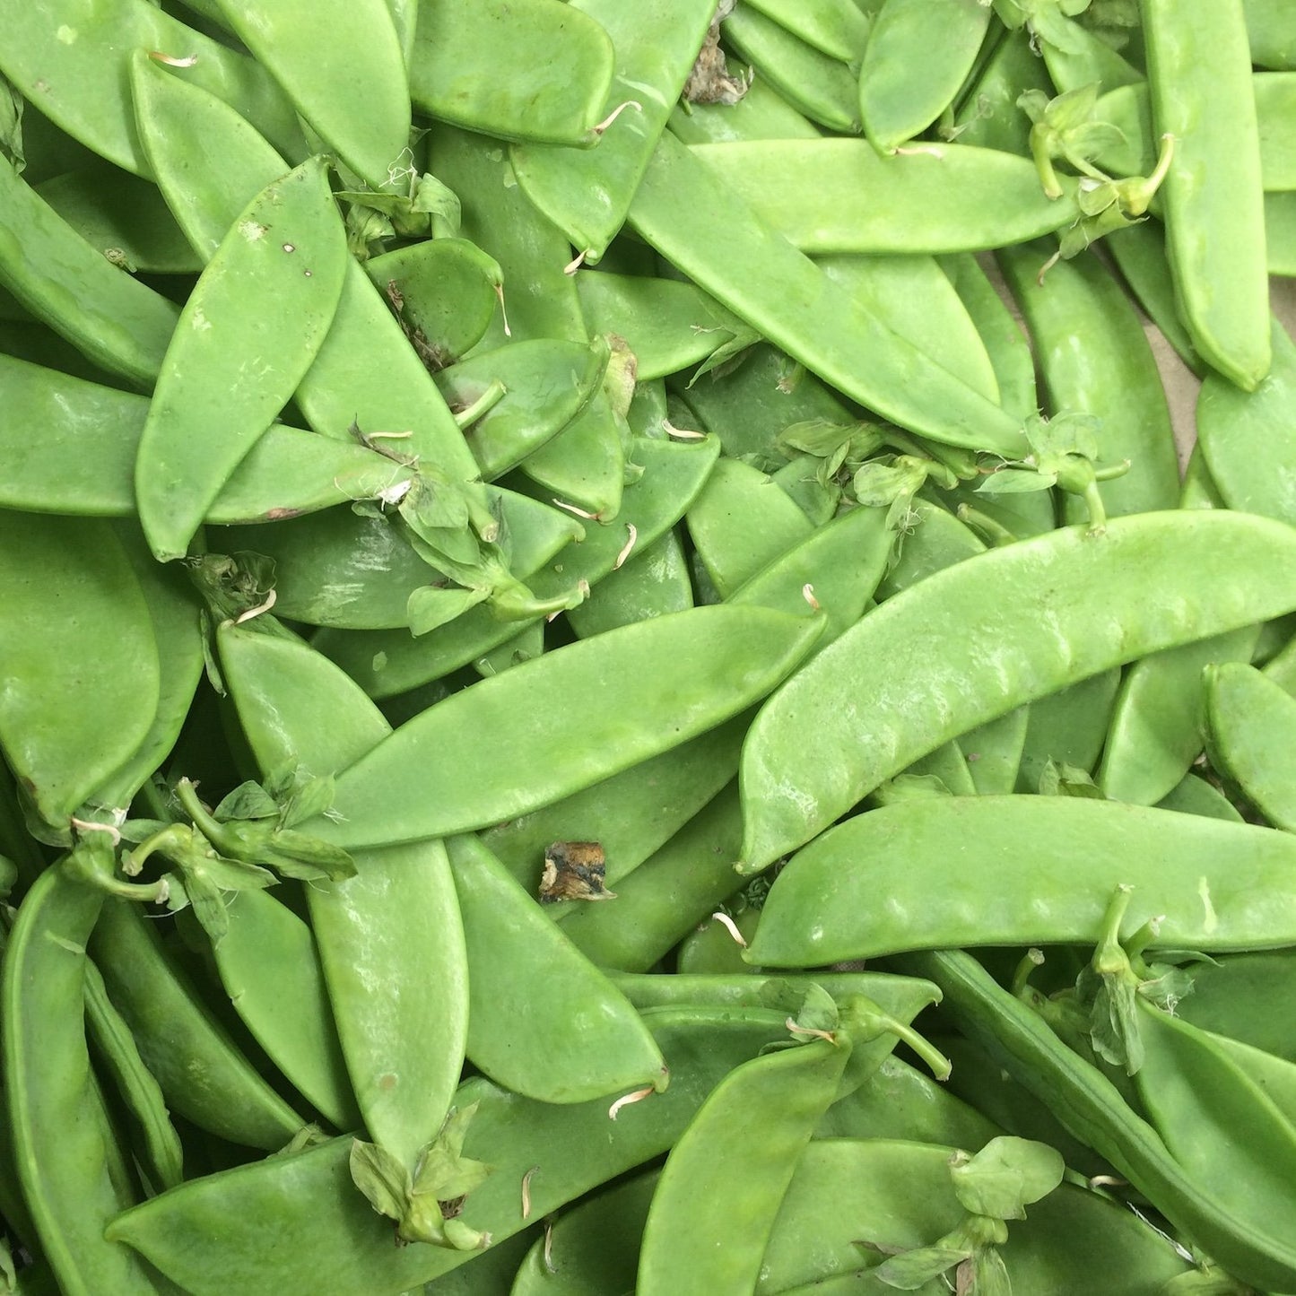
[[[1096,430],[1098,460],[1130,469],[1103,482],[1108,517],[1174,508],[1179,500],[1179,461],[1170,407],[1142,320],[1094,257],[1052,266],[1043,248],[1003,248],[997,254],[1008,286],[1021,305],[1051,413],[1089,413]],[[1083,502],[1067,496],[1063,517],[1085,521]]]

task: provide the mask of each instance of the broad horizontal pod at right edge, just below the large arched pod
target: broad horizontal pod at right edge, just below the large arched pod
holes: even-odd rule
[[[797,851],[744,958],[818,967],[942,943],[1082,945],[1124,884],[1134,886],[1134,927],[1165,915],[1159,945],[1267,949],[1292,940],[1296,902],[1278,879],[1293,858],[1287,835],[1271,828],[1118,801],[903,801]],[[880,885],[886,903],[870,905]]]

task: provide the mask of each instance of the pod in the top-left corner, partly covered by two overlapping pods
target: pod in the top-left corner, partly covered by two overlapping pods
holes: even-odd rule
[[[93,13],[70,0],[39,10],[6,0],[0,19],[0,71],[69,135],[127,171],[152,176],[126,75],[135,51],[194,56],[184,70],[189,82],[219,95],[279,148],[302,152],[293,105],[264,69],[146,0],[110,0]]]

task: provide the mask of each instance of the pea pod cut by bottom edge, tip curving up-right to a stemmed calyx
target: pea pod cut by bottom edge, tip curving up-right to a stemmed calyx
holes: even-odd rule
[[[837,1090],[850,1038],[766,1054],[717,1085],[666,1157],[644,1223],[635,1291],[746,1296],[779,1204]],[[759,1138],[752,1138],[753,1126]],[[724,1173],[713,1178],[715,1166]],[[700,1183],[710,1190],[699,1194]]]

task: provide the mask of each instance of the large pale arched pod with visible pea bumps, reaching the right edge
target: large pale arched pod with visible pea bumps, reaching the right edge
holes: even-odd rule
[[[757,715],[743,750],[743,867],[809,841],[884,779],[1023,702],[1283,616],[1296,584],[1238,572],[1282,572],[1293,551],[1296,531],[1269,518],[1142,513],[990,550],[890,599]],[[950,645],[936,661],[912,647],[933,634]]]

